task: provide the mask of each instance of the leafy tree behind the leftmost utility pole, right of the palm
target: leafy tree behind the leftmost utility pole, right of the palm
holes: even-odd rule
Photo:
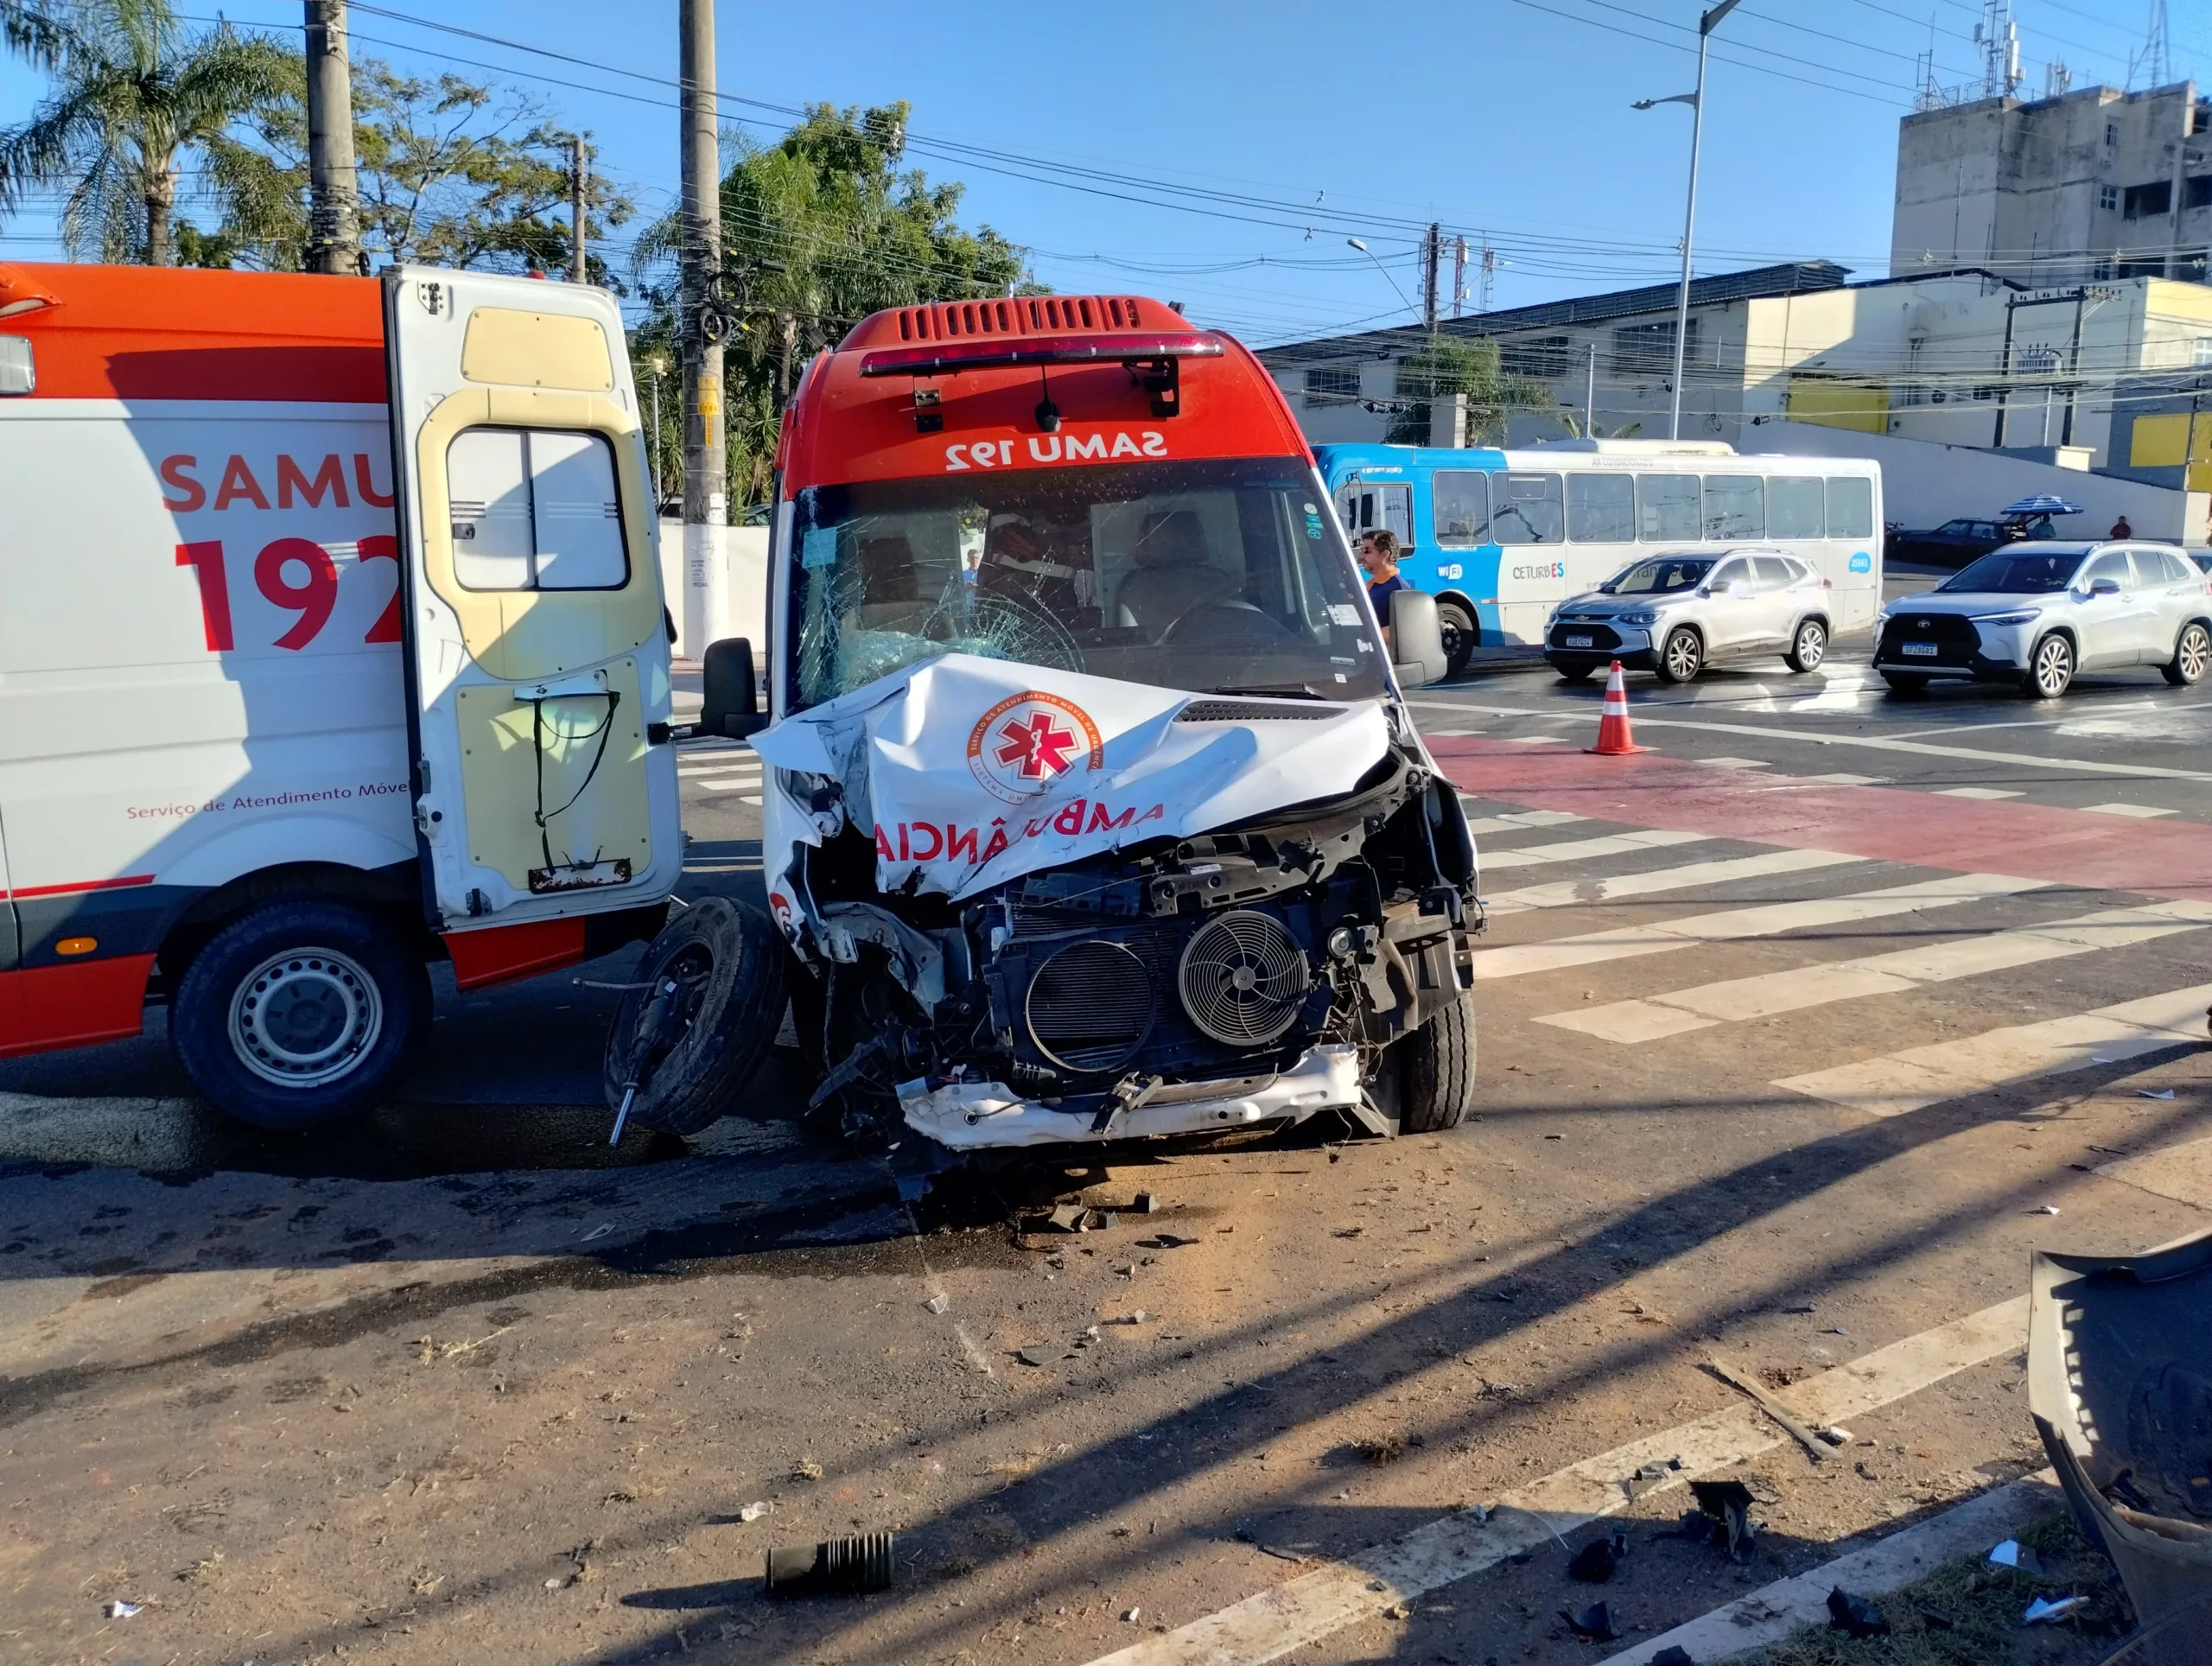
[[[4,2],[4,0],[0,0]],[[228,206],[199,239],[201,265],[299,270],[307,248],[307,106],[303,71],[261,102],[257,144],[212,146]],[[606,232],[635,204],[588,166],[591,281],[619,290]],[[500,97],[460,75],[425,82],[374,58],[354,64],[354,166],[361,248],[372,259],[522,272],[568,265],[568,135],[529,97]]]

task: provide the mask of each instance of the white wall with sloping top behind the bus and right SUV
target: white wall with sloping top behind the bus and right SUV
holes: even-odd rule
[[[2062,538],[2104,538],[2106,529],[2126,516],[2139,538],[2208,542],[2212,493],[2170,491],[2104,473],[2057,469],[1971,445],[1929,445],[1812,423],[1761,423],[1743,431],[1743,445],[1736,449],[1801,458],[1871,458],[1882,465],[1882,518],[1913,529],[1940,527],[1953,516],[1995,516],[2008,502],[2051,491],[2081,504],[2084,511],[2057,522]]]

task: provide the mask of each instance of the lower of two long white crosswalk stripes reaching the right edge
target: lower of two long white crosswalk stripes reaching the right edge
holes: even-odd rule
[[[2119,1064],[2188,1042],[2203,1044],[2208,1002],[2212,985],[2192,985],[2073,1018],[2008,1024],[1955,1042],[1907,1047],[1829,1071],[1787,1075],[1774,1086],[1865,1111],[1869,1117],[1896,1117],[2011,1082]]]

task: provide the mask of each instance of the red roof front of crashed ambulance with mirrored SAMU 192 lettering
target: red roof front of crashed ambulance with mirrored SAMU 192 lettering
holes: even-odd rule
[[[995,365],[980,369],[907,372],[863,376],[863,363],[878,352],[931,345],[969,347],[1004,343],[1042,345],[1048,339],[1079,339],[1097,350],[1095,363]],[[1133,396],[1128,369],[1113,356],[1117,339],[1130,343],[1130,358],[1144,361],[1150,343],[1194,345],[1203,356],[1181,356],[1181,409],[1148,414],[1144,396]],[[936,387],[945,418],[940,431],[916,425],[916,387]],[[1267,369],[1241,341],[1219,330],[1201,330],[1172,308],[1119,294],[1035,294],[991,301],[931,301],[876,312],[854,325],[834,350],[814,358],[783,416],[779,465],[785,496],[805,487],[852,480],[905,480],[942,476],[967,467],[967,447],[1020,440],[1002,467],[1040,467],[1062,458],[1044,436],[1035,407],[1051,389],[1066,409],[1062,442],[1106,445],[1133,436],[1148,458],[1305,458],[1305,436]],[[1110,412],[1099,416],[1099,412]],[[1037,440],[1035,447],[1029,440]],[[953,451],[960,449],[960,456]],[[1053,456],[1037,456],[1051,451]],[[1095,460],[1128,456],[1102,447]]]

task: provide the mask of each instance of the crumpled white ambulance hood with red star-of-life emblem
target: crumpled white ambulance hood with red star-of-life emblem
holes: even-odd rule
[[[1190,695],[951,653],[752,739],[836,779],[883,892],[953,898],[1146,839],[1347,794],[1385,754],[1380,701]],[[774,788],[772,788],[774,790]],[[812,819],[810,843],[838,830]]]

